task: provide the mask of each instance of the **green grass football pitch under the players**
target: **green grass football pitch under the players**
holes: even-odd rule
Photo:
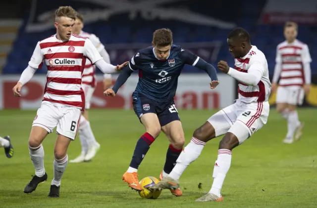
[[[180,111],[186,144],[195,128],[214,112]],[[233,150],[232,163],[222,194],[224,201],[198,203],[195,200],[208,192],[212,169],[217,156],[219,138],[209,142],[202,155],[192,163],[180,179],[183,196],[173,197],[163,190],[157,200],[141,199],[139,194],[121,181],[129,166],[135,143],[144,133],[133,111],[91,110],[90,122],[101,150],[90,163],[68,164],[63,175],[60,198],[48,199],[53,178],[53,147],[56,134],[44,141],[45,168],[49,179],[31,194],[23,188],[34,174],[28,137],[35,111],[0,111],[0,135],[9,134],[14,157],[6,159],[0,149],[0,208],[316,208],[317,207],[317,136],[316,109],[301,109],[305,122],[301,140],[282,143],[286,121],[271,109],[268,123],[243,145]],[[168,141],[161,134],[153,143],[139,168],[139,179],[159,177]],[[68,158],[80,153],[77,138],[70,144]],[[198,184],[202,183],[201,188]]]

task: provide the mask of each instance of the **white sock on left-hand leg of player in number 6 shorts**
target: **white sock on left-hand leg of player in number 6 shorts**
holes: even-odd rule
[[[41,144],[39,147],[33,148],[29,146],[31,161],[35,168],[35,175],[42,177],[45,174],[44,168],[44,148]]]

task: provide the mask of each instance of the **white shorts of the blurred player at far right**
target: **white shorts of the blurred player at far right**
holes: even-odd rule
[[[302,87],[277,87],[276,103],[287,103],[290,105],[302,105],[304,101],[304,89]]]

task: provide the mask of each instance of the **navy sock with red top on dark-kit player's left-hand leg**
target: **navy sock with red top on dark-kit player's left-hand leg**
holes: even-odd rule
[[[139,138],[134,149],[130,167],[138,169],[154,140],[155,138],[148,132]]]

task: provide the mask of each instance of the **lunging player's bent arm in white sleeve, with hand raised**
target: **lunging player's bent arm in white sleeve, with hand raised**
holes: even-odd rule
[[[230,77],[233,77],[239,82],[252,86],[256,86],[260,82],[264,72],[264,67],[261,65],[260,62],[251,64],[248,73],[239,72],[229,67],[228,63],[225,61],[220,61],[218,63],[218,68],[222,72],[228,74]]]

